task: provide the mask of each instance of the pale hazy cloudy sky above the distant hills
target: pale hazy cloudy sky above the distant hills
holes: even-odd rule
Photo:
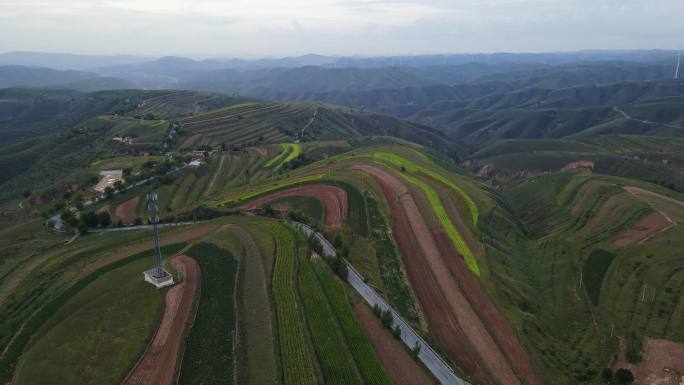
[[[0,0],[0,52],[216,57],[678,48],[684,0]]]

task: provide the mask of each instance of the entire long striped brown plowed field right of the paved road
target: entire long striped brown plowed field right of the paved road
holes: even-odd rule
[[[428,228],[406,186],[381,168],[354,167],[370,174],[387,197],[411,283],[430,330],[451,359],[480,383],[518,384],[519,377],[525,384],[542,384],[506,320],[443,230]]]

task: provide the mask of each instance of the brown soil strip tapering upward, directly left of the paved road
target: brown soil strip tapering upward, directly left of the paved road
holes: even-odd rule
[[[367,306],[358,304],[354,310],[378,352],[382,365],[396,385],[433,385],[406,349],[399,345]]]

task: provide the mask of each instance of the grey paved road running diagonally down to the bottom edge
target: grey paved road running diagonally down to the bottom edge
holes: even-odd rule
[[[299,228],[304,234],[310,236],[311,233],[315,233],[314,230],[303,224],[293,222],[293,225]],[[326,255],[335,255],[335,248],[328,242],[327,239],[319,233],[315,233],[316,237],[321,241],[323,245],[323,253]],[[345,261],[346,262],[346,261]],[[356,290],[361,297],[363,297],[369,305],[378,305],[383,311],[389,310],[392,312],[394,317],[394,324],[399,325],[401,329],[401,340],[404,341],[406,346],[413,348],[418,344],[420,346],[420,353],[418,358],[423,362],[425,367],[432,373],[440,383],[444,385],[470,385],[467,381],[459,378],[453,370],[447,365],[447,363],[442,360],[441,357],[428,345],[425,340],[423,340],[418,333],[416,333],[411,326],[409,326],[406,321],[404,321],[399,314],[392,309],[370,286],[368,286],[364,280],[363,276],[359,274],[356,269],[349,263],[347,267],[349,268],[349,276],[347,277],[347,282]]]

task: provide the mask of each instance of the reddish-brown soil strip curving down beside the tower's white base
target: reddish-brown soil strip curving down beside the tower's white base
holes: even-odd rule
[[[124,381],[126,385],[171,385],[176,380],[178,352],[199,285],[199,267],[194,259],[184,255],[171,259],[171,265],[178,270],[182,281],[166,293],[159,329],[152,344]]]

